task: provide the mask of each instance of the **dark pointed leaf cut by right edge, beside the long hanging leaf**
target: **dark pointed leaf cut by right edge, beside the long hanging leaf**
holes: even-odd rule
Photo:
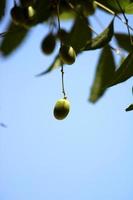
[[[133,76],[133,52],[131,52],[121,66],[116,70],[109,86],[122,83]]]

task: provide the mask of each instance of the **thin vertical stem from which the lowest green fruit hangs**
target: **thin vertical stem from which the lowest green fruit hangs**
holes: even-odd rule
[[[59,18],[59,13],[60,13],[60,0],[57,1],[57,20],[58,20],[58,29],[59,33],[61,32],[61,26],[60,26],[60,18]],[[60,46],[62,46],[62,41],[60,40]],[[64,65],[63,62],[61,62],[61,83],[62,83],[62,93],[64,96],[64,99],[66,99],[66,92],[65,92],[65,85],[64,85]]]

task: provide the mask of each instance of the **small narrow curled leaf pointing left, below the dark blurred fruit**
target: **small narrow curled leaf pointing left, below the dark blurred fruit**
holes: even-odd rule
[[[60,58],[59,58],[59,55],[57,55],[53,61],[53,63],[48,67],[48,69],[46,69],[45,71],[37,74],[36,76],[39,77],[39,76],[43,76],[49,72],[51,72],[53,69],[56,69],[57,67],[59,67],[61,65],[61,61],[60,61]]]

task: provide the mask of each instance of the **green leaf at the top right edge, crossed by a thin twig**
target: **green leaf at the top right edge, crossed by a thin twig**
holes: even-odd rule
[[[130,0],[118,0],[118,1],[124,11],[125,11],[126,7],[130,4]],[[106,6],[110,10],[114,11],[116,14],[122,12],[122,10],[120,9],[116,0],[97,0],[97,2]]]

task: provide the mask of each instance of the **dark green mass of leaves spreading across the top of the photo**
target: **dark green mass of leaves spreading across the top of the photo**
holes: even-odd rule
[[[33,26],[36,27],[36,25],[40,23],[47,23],[50,26],[49,35],[52,34],[55,42],[60,40],[61,45],[72,46],[77,56],[84,51],[101,48],[89,97],[91,102],[94,103],[99,100],[111,86],[122,83],[133,76],[133,44],[130,34],[133,28],[128,24],[126,18],[126,14],[133,14],[133,0],[30,0],[29,4],[27,4],[27,2],[25,4],[24,2],[26,1],[20,0],[20,2],[17,2],[18,4],[15,2],[13,7],[16,6],[21,9],[22,15],[24,15],[23,19],[25,20],[23,22],[17,20],[17,23],[15,23],[16,21],[14,18],[16,19],[17,14],[13,13],[6,30],[7,32],[5,34],[0,34],[0,36],[4,36],[0,43],[0,51],[5,58],[11,55],[12,52],[24,42],[24,39],[28,36]],[[6,0],[1,0],[0,20],[4,18],[6,3]],[[90,16],[95,15],[97,9],[101,9],[112,15],[112,21],[100,34],[97,34],[97,32],[93,30],[89,20]],[[125,22],[119,14],[123,15]],[[116,33],[114,31],[115,18],[118,18],[127,26],[127,34]],[[62,19],[72,20],[73,25],[69,32],[59,27],[60,24],[58,24],[57,21]],[[51,32],[51,30],[53,30],[53,32]],[[93,36],[94,34],[96,34],[95,37]],[[50,38],[49,35],[45,37]],[[119,67],[116,67],[115,54],[112,53],[112,50],[117,53],[117,49],[114,49],[114,47],[110,45],[110,41],[113,37],[116,39],[118,49],[121,48],[128,52],[127,57],[120,63]],[[45,38],[43,38],[43,41],[44,39]],[[48,44],[46,48],[44,46],[46,52],[53,52],[55,44],[52,49],[48,49],[48,46]],[[42,76],[51,72],[61,65],[62,61],[58,53],[52,64],[37,76]],[[130,105],[126,111],[128,110],[133,110],[133,106]]]

